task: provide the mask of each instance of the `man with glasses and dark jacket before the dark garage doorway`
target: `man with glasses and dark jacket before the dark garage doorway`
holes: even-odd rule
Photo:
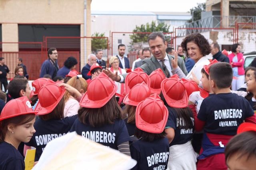
[[[48,50],[48,59],[44,61],[41,66],[40,78],[44,77],[45,74],[49,74],[52,78],[56,77],[59,70],[57,63],[58,52],[56,48],[50,48]]]

